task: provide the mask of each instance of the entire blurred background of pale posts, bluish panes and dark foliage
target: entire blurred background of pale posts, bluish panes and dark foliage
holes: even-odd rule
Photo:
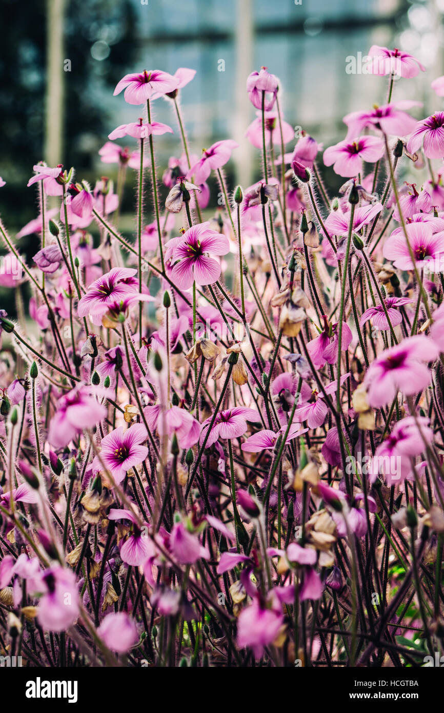
[[[259,175],[259,152],[244,133],[254,119],[246,78],[261,66],[282,81],[284,118],[324,147],[344,138],[346,113],[386,101],[387,78],[346,71],[351,57],[359,68],[358,53],[365,58],[373,43],[408,51],[427,68],[397,81],[395,100],[441,108],[430,81],[444,74],[443,11],[444,0],[0,0],[1,215],[13,234],[36,217],[36,190],[26,183],[41,159],[74,165],[78,180],[92,185],[103,174],[115,180],[117,166],[100,163],[98,150],[140,109],[113,89],[125,73],[144,68],[197,70],[180,93],[190,146],[200,156],[221,138],[242,143],[229,163],[229,185],[247,186]],[[155,138],[162,175],[169,156],[181,153],[180,135],[169,101],[156,101],[153,113],[175,131]],[[136,148],[130,138],[120,143]],[[130,170],[128,220],[134,185]],[[211,188],[215,207],[218,188]],[[21,245],[35,252],[37,240]]]

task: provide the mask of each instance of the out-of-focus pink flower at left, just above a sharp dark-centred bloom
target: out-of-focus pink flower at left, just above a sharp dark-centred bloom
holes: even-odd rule
[[[51,419],[48,441],[54,448],[63,448],[84,429],[92,429],[108,413],[98,403],[93,387],[76,386],[58,400],[57,411]]]

